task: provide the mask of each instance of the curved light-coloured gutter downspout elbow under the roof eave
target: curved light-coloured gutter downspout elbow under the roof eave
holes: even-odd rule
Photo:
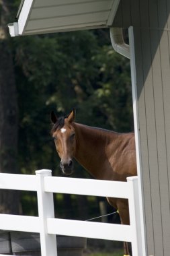
[[[129,45],[124,42],[122,28],[110,28],[110,39],[114,50],[130,59]]]

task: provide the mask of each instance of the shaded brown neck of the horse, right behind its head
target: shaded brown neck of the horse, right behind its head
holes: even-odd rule
[[[75,159],[95,179],[111,179],[112,170],[108,161],[107,146],[116,139],[116,133],[94,129],[78,123],[73,124],[76,133]],[[113,152],[112,152],[113,153]]]

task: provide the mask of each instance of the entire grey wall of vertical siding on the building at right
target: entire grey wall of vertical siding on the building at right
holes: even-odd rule
[[[169,256],[170,3],[125,1],[114,26],[123,15],[122,25],[134,27],[147,255]]]

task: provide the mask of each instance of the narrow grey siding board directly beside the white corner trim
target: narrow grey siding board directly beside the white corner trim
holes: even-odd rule
[[[138,94],[138,123],[140,129],[140,152],[141,154],[141,170],[142,170],[142,184],[144,196],[144,214],[146,220],[146,243],[149,251],[154,252],[154,236],[153,236],[153,212],[151,200],[151,179],[148,160],[148,135],[146,129],[146,108],[145,108],[145,94],[144,94],[144,73],[143,73],[143,56],[142,56],[142,34],[140,30],[134,29],[134,51],[136,55],[136,84]],[[143,170],[146,170],[145,172]]]

